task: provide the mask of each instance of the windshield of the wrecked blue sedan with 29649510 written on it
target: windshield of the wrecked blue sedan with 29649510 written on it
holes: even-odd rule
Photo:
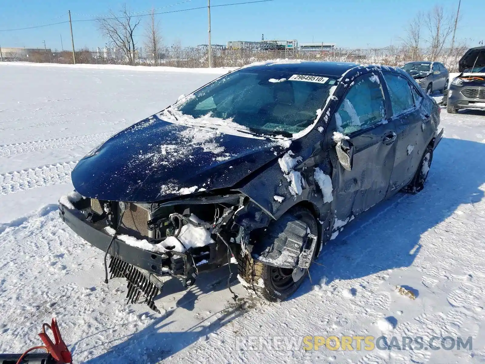
[[[315,121],[336,82],[324,76],[242,69],[202,87],[171,110],[192,123],[210,117],[215,124],[226,120],[254,133],[291,137]]]

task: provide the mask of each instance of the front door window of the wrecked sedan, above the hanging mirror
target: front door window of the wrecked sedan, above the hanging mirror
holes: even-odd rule
[[[337,129],[344,134],[366,129],[385,118],[384,96],[377,75],[356,79],[335,113]]]

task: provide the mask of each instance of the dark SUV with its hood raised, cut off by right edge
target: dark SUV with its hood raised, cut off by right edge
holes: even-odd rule
[[[459,109],[485,109],[485,47],[469,49],[458,67],[461,73],[450,85],[446,110],[456,114]]]

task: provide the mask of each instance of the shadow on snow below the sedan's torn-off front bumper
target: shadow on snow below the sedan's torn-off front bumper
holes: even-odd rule
[[[232,287],[238,282],[237,265],[231,264],[231,270],[233,273],[230,282]],[[241,316],[245,312],[245,308],[242,308],[242,302],[240,300],[236,303],[230,298],[227,299],[228,295],[219,293],[219,291],[226,290],[227,288],[228,272],[227,265],[213,271],[201,272],[194,285],[188,289],[185,289],[181,281],[176,278],[165,281],[163,292],[156,298],[155,303],[159,308],[163,307],[163,303],[166,304],[165,307],[172,307],[164,313],[164,310],[161,309],[162,314],[147,311],[145,314],[149,316],[150,322],[148,326],[132,335],[127,335],[125,338],[118,337],[117,341],[124,341],[114,345],[109,351],[84,363],[157,363],[199,340],[208,340],[211,333],[226,326],[233,319]],[[171,325],[180,328],[183,327],[180,324],[181,322],[194,322],[194,320],[186,319],[186,315],[189,314],[187,311],[193,311],[199,300],[209,294],[224,295],[224,298],[216,298],[216,300],[226,300],[226,307],[217,312],[210,311],[209,315],[204,315],[204,317],[196,320],[197,323],[195,325],[189,326],[187,324],[187,327],[184,327],[183,331],[170,330]],[[137,305],[138,309],[143,309],[143,307],[141,304]],[[221,305],[217,307],[221,307]],[[134,313],[134,310],[131,310],[131,312]],[[116,326],[116,322],[113,317],[114,326]],[[91,337],[97,334],[100,334],[100,332],[83,337],[80,341],[89,341]],[[73,356],[76,356],[76,348],[80,341],[74,343],[71,347]],[[91,347],[88,347],[83,349],[83,351],[89,351],[91,349]]]

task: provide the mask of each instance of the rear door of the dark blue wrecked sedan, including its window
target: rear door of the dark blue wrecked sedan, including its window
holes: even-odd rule
[[[392,110],[391,124],[397,133],[388,191],[388,195],[392,195],[411,181],[418,168],[431,116],[423,106],[423,95],[404,76],[394,72],[383,72],[383,75]]]

